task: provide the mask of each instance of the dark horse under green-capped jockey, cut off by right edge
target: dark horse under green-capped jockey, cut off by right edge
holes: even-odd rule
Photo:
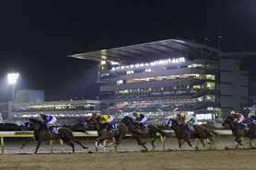
[[[227,116],[222,123],[222,126],[229,125],[230,130],[232,131],[232,134],[235,136],[235,142],[238,142],[240,145],[243,145],[245,147],[245,142],[243,137],[250,138],[250,147],[251,147],[251,141],[256,138],[256,130],[255,125],[248,123],[248,129],[244,127],[244,125],[240,123],[234,123],[232,117]],[[240,138],[242,140],[240,140]],[[239,145],[236,145],[236,148],[239,148]]]

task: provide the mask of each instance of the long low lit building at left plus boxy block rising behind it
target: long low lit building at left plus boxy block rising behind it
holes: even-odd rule
[[[88,116],[100,111],[99,100],[44,101],[44,92],[38,90],[18,90],[16,102],[10,101],[6,106],[8,119],[39,118],[43,111],[54,115],[60,125],[85,122]]]

